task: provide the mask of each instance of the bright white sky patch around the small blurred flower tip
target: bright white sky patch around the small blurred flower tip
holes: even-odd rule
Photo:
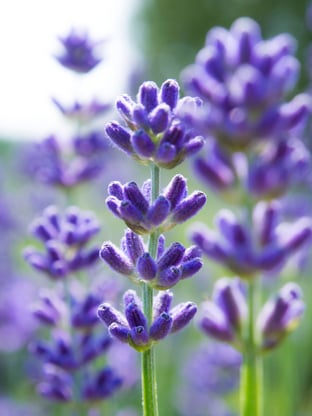
[[[70,104],[74,98],[114,101],[125,92],[134,54],[129,18],[136,3],[0,1],[0,138],[39,140],[62,129],[64,119],[51,97]],[[57,37],[72,28],[106,39],[103,62],[82,83],[53,58],[61,50]]]

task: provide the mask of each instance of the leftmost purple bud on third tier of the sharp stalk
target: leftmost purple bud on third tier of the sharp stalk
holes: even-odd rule
[[[130,276],[133,273],[133,264],[131,264],[128,257],[111,242],[107,241],[103,243],[99,255],[100,258],[116,272],[126,276]]]

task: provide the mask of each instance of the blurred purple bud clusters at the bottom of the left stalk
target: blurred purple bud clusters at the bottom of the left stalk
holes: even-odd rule
[[[83,295],[81,291],[70,291],[68,296],[69,302],[60,293],[44,290],[32,308],[37,320],[50,328],[50,339],[30,344],[30,351],[43,363],[38,391],[51,400],[75,400],[76,375],[83,372],[80,399],[107,399],[122,387],[124,380],[114,366],[97,367],[94,371],[95,361],[114,347],[107,333],[97,331],[97,309],[103,296],[98,290]]]

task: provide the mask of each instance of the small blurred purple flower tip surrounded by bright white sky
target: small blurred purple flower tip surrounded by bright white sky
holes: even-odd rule
[[[59,37],[59,41],[63,51],[55,58],[71,71],[86,74],[102,61],[97,49],[103,40],[94,41],[87,33],[72,29],[67,36]]]

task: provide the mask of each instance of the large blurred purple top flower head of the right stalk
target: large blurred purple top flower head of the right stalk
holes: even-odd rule
[[[203,105],[181,108],[181,117],[213,134],[227,151],[245,151],[259,140],[297,128],[310,111],[310,99],[297,95],[285,103],[299,72],[288,34],[263,40],[258,24],[237,19],[230,30],[211,29],[205,47],[182,78]]]

